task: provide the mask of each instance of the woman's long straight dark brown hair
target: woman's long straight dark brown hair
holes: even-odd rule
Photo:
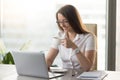
[[[85,25],[82,23],[80,15],[77,9],[72,5],[65,5],[60,8],[56,13],[56,19],[58,20],[58,13],[62,14],[69,22],[73,30],[78,34],[86,34],[88,33],[85,30]],[[58,24],[59,29],[63,31],[63,29]]]

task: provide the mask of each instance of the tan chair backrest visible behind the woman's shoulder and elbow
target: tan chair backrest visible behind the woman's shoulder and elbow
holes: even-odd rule
[[[97,37],[97,24],[85,24],[88,31],[92,32]],[[95,59],[93,66],[90,70],[97,70],[97,52],[95,54]]]

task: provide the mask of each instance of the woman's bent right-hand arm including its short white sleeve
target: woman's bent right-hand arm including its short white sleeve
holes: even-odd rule
[[[96,58],[96,37],[91,36],[86,41],[86,50],[84,51],[84,53],[78,51],[76,53],[76,56],[79,60],[81,67],[85,71],[89,71],[93,66]],[[72,46],[72,49],[75,50],[76,48],[78,48],[78,46],[74,44]]]

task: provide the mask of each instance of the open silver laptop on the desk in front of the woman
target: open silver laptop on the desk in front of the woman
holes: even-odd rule
[[[56,78],[63,76],[62,73],[48,71],[45,54],[41,52],[12,51],[16,70],[20,76],[31,76],[40,78]]]

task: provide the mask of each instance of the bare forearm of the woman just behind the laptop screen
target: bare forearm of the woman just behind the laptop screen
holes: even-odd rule
[[[46,63],[48,65],[48,69],[49,67],[52,65],[55,57],[57,56],[58,54],[58,50],[55,49],[55,48],[51,48],[46,56]]]

